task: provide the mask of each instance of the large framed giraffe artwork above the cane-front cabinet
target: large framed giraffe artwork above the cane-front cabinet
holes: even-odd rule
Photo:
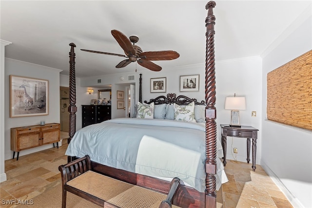
[[[49,81],[10,75],[10,117],[49,114]]]

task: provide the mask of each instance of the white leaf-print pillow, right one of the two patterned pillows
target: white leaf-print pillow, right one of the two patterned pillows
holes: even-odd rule
[[[186,106],[179,106],[178,104],[174,103],[175,120],[196,122],[194,115],[194,106],[195,106],[194,102],[191,102]]]

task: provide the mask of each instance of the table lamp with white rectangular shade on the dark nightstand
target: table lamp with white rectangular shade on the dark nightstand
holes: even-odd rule
[[[246,110],[245,97],[236,97],[236,94],[234,94],[234,97],[226,97],[224,109],[231,110],[230,126],[240,127],[239,110]]]

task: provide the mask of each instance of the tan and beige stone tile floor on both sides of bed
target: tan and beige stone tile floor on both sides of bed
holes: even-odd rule
[[[55,183],[60,183],[59,165],[67,163],[64,155],[67,140],[62,146],[20,156],[19,160],[5,161],[7,181],[0,183],[0,199],[26,200],[41,194]],[[257,165],[227,160],[225,172],[229,182],[217,191],[223,208],[292,208],[283,192],[274,184],[267,173]],[[221,197],[222,196],[222,197]],[[4,206],[0,203],[0,207]]]

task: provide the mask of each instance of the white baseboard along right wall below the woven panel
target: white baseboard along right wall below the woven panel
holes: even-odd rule
[[[294,208],[305,208],[301,202],[292,194],[291,191],[287,189],[287,187],[283,184],[283,182],[277,177],[277,175],[271,170],[263,160],[261,161],[261,167],[268,173],[270,178],[276,184],[276,186],[281,189],[281,191],[285,194],[288,201],[292,204]]]

